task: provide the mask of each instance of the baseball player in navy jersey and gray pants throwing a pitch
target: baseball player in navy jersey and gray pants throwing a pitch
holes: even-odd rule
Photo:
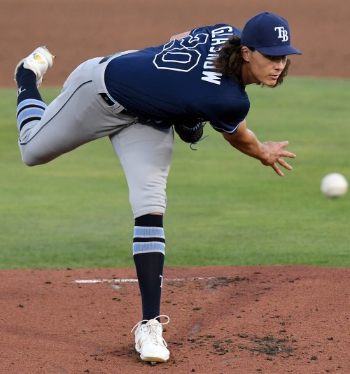
[[[134,213],[133,257],[142,301],[134,326],[142,360],[167,361],[160,315],[166,208],[165,187],[174,132],[196,143],[208,122],[240,152],[283,176],[288,141],[261,143],[246,127],[246,85],[276,87],[288,73],[288,22],[272,13],[252,17],[241,31],[230,24],[198,27],[168,43],[118,52],[80,64],[46,106],[38,87],[55,57],[39,47],[15,69],[22,160],[45,164],[84,143],[109,136],[125,171]],[[164,321],[165,322],[162,322]]]

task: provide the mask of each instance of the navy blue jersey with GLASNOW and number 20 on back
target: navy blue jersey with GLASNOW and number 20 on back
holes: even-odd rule
[[[180,41],[150,47],[109,62],[109,94],[141,118],[209,121],[217,131],[233,133],[249,110],[235,78],[214,69],[218,50],[241,31],[228,24],[193,29]]]

